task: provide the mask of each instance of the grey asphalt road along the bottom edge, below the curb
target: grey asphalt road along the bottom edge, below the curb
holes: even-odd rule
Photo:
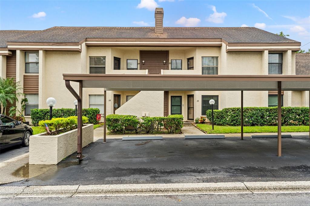
[[[2,198],[0,205],[309,205],[309,193]]]

